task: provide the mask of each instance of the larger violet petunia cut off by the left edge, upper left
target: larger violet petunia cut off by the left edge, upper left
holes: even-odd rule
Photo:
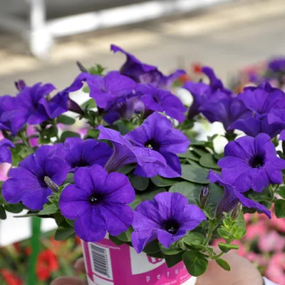
[[[26,118],[26,110],[21,108],[16,97],[0,96],[0,130],[9,130],[16,135],[24,127]]]

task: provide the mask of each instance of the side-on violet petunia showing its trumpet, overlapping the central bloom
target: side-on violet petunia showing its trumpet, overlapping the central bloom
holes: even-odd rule
[[[155,150],[135,147],[118,131],[104,128],[103,125],[98,130],[98,140],[110,140],[113,143],[113,155],[105,165],[105,170],[109,173],[119,170],[123,165],[137,164],[135,174],[143,172],[145,177],[152,177],[157,175],[156,167],[166,167],[165,158]]]

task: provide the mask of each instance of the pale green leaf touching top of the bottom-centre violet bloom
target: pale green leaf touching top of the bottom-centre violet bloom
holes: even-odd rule
[[[187,197],[190,204],[196,204],[195,199],[199,199],[199,194],[202,185],[194,184],[192,182],[178,182],[170,187],[169,192],[177,192]]]

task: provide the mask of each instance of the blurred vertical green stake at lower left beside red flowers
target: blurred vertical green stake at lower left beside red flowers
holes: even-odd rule
[[[38,217],[31,218],[31,256],[28,260],[28,285],[37,285],[36,278],[36,260],[40,250],[41,237],[41,219]]]

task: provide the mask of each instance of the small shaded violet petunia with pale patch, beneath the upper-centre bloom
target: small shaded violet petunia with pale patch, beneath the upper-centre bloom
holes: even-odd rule
[[[140,100],[140,96],[130,94],[121,96],[116,99],[109,108],[105,108],[103,119],[108,124],[113,124],[116,120],[123,118],[130,120],[134,113],[140,113],[144,110],[144,105]]]

